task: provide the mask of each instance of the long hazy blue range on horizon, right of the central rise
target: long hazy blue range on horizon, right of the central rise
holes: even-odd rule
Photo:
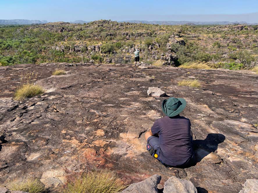
[[[142,24],[159,24],[159,25],[229,25],[229,24],[246,24],[245,21],[141,21],[141,20],[126,20],[118,22],[129,22],[129,23],[142,23]]]

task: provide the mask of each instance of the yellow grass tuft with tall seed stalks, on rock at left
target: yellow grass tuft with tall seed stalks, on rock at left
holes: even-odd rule
[[[15,100],[22,101],[26,98],[40,95],[44,92],[41,86],[34,84],[35,80],[38,78],[38,74],[26,73],[25,75],[22,74],[20,77],[20,84],[14,94]]]

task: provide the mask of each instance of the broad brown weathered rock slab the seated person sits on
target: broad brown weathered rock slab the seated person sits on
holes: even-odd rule
[[[55,64],[0,67],[0,183],[37,177],[60,187],[69,175],[108,168],[125,183],[162,176],[189,179],[198,192],[239,192],[258,178],[258,75],[250,71],[137,68],[128,64]],[[19,75],[41,74],[45,93],[13,100]],[[178,86],[186,77],[201,88]],[[159,87],[185,98],[182,116],[191,120],[198,163],[166,168],[146,151],[144,132],[162,117],[167,97],[147,95]]]

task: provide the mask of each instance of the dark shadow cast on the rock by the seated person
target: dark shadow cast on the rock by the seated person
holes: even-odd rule
[[[200,162],[205,156],[218,149],[218,144],[225,140],[223,134],[208,134],[206,139],[193,140],[193,149],[195,152],[196,162]]]

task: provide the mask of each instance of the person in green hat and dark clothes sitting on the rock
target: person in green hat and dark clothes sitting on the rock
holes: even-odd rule
[[[193,133],[189,119],[179,116],[186,107],[183,98],[163,100],[165,117],[159,118],[147,131],[147,150],[166,167],[189,167],[195,164]]]

